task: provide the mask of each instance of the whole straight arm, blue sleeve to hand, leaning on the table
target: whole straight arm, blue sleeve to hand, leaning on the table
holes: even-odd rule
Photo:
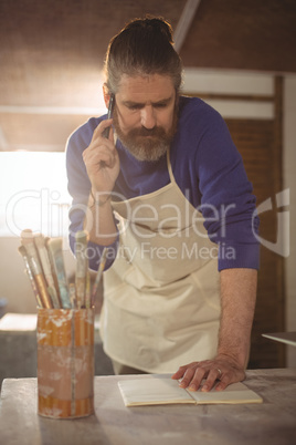
[[[258,220],[252,185],[225,122],[207,105],[201,110],[202,114],[192,113],[183,123],[187,134],[193,132],[197,141],[195,162],[191,164],[192,177],[199,179],[195,205],[201,203],[209,238],[232,248],[235,256],[219,257],[222,313],[215,359],[181,366],[173,379],[184,377],[183,386],[193,379],[199,387],[208,376],[208,390],[221,379],[216,387],[223,390],[244,379],[256,296]]]

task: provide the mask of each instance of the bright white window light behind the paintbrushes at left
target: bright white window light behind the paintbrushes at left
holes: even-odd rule
[[[65,153],[0,152],[1,237],[65,237],[70,204]]]

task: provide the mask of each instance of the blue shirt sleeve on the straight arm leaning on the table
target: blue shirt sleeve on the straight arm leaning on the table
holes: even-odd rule
[[[242,156],[215,111],[199,139],[195,170],[204,227],[210,239],[219,245],[219,270],[258,269],[256,199]]]

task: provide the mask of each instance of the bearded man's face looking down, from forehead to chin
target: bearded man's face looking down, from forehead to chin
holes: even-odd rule
[[[123,75],[114,127],[125,147],[139,161],[157,161],[170,146],[177,127],[176,90],[170,76]]]

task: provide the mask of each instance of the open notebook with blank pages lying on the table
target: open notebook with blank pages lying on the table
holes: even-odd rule
[[[189,391],[170,377],[121,380],[118,382],[126,406],[165,405],[171,403],[261,403],[263,400],[243,383],[233,383],[224,391],[208,393]]]

